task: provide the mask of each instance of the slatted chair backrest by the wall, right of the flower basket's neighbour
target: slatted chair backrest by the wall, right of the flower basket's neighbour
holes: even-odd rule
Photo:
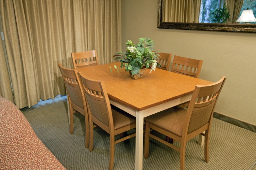
[[[196,60],[175,55],[171,72],[199,78],[203,60]]]

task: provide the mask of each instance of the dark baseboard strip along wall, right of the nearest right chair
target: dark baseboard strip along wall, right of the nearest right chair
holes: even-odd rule
[[[231,118],[229,116],[222,115],[217,112],[213,112],[213,118],[228,122],[230,124],[236,125],[238,127],[241,127],[241,128],[244,128],[246,130],[256,133],[256,125],[253,125],[253,124],[241,121],[241,120],[237,120],[235,118]]]

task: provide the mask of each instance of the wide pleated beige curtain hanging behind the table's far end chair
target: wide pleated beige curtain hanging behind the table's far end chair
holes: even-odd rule
[[[0,0],[15,103],[33,106],[65,94],[58,63],[97,50],[99,63],[119,51],[119,0]]]

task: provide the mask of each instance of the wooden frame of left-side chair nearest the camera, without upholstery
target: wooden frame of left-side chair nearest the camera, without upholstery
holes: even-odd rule
[[[110,164],[109,164],[109,169],[113,169],[114,165],[114,145],[122,142],[126,139],[129,139],[131,137],[134,137],[136,134],[133,133],[131,135],[121,137],[117,140],[115,140],[115,135],[122,134],[130,129],[134,129],[136,127],[136,123],[122,127],[120,129],[114,130],[114,122],[113,122],[113,117],[112,117],[112,111],[111,111],[111,105],[108,97],[108,93],[104,84],[104,81],[96,81],[92,80],[89,78],[86,78],[84,75],[82,75],[81,72],[78,73],[80,81],[82,82],[82,89],[84,92],[84,96],[86,94],[90,97],[92,97],[95,100],[99,101],[105,101],[105,105],[107,108],[107,114],[108,114],[108,120],[109,120],[109,127],[106,126],[104,123],[102,123],[100,120],[96,119],[92,113],[91,109],[88,104],[87,97],[86,98],[86,103],[87,103],[87,108],[88,108],[88,113],[89,113],[89,121],[90,121],[90,144],[89,144],[89,151],[93,150],[93,137],[94,137],[94,129],[93,129],[93,124],[95,123],[98,125],[100,128],[102,128],[104,131],[106,131],[108,134],[110,134]]]

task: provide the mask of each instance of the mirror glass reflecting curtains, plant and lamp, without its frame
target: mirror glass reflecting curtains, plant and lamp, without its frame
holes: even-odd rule
[[[162,22],[256,25],[256,0],[162,0]]]

